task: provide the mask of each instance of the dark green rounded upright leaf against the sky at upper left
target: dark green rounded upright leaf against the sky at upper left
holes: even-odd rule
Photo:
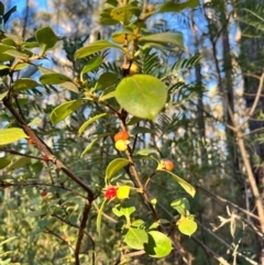
[[[43,53],[45,53],[48,49],[52,49],[58,42],[58,37],[50,26],[45,26],[36,31],[35,37],[36,41],[40,43]]]

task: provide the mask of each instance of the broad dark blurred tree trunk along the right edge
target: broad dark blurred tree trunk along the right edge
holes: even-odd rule
[[[250,1],[248,5],[243,8],[250,8],[255,10],[257,12],[257,4],[264,4],[263,0],[254,0]],[[239,10],[239,13],[241,14],[241,18],[243,15],[246,15],[243,13],[243,10]],[[242,32],[245,30],[245,24],[242,22],[240,23]],[[243,74],[250,73],[252,75],[260,76],[263,71],[263,60],[262,53],[264,47],[264,38],[263,38],[263,32],[261,32],[262,35],[260,35],[260,32],[255,27],[249,26],[246,31],[250,32],[251,37],[246,37],[242,34],[241,37],[241,68],[243,70]],[[255,95],[258,88],[258,79],[255,77],[251,77],[249,75],[244,75],[244,100],[246,103],[246,108],[251,109],[252,104],[255,99]],[[251,161],[252,168],[254,170],[254,176],[256,184],[260,189],[261,198],[254,198],[262,199],[264,202],[264,143],[263,141],[260,141],[262,137],[262,129],[264,128],[264,121],[263,118],[261,119],[261,114],[264,110],[264,97],[262,96],[260,98],[260,101],[257,103],[257,108],[255,111],[255,114],[250,119],[249,121],[249,128],[251,132],[255,132],[252,134],[253,136],[253,150],[255,159]],[[252,207],[254,207],[254,202],[252,203]],[[264,207],[264,203],[263,203]],[[257,236],[257,235],[256,235]],[[263,238],[257,236],[257,262],[258,264],[264,264],[264,241]]]

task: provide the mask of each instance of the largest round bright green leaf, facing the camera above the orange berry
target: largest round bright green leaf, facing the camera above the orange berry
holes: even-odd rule
[[[133,75],[118,85],[116,99],[132,115],[153,120],[166,103],[167,90],[156,77]]]

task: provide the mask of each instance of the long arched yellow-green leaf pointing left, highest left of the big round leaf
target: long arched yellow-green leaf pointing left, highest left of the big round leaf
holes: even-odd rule
[[[91,54],[95,54],[102,49],[111,48],[111,47],[121,49],[121,47],[117,44],[113,44],[113,43],[105,41],[105,40],[99,40],[99,41],[88,44],[85,47],[79,48],[75,53],[75,58],[76,59],[84,58],[84,57],[87,57],[88,55],[91,55]]]

